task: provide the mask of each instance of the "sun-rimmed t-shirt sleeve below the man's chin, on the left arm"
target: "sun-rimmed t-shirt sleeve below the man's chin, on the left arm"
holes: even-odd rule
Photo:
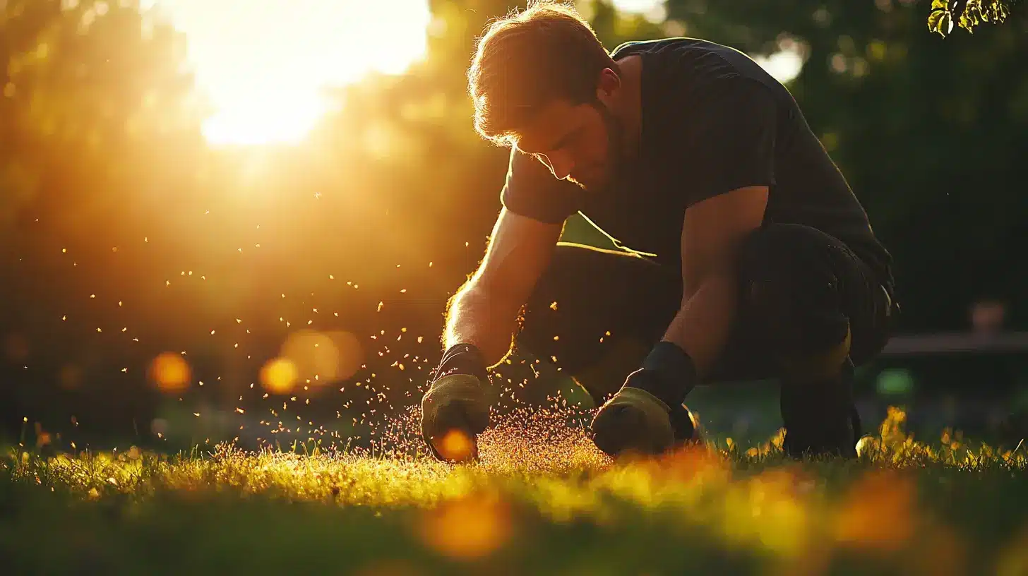
[[[507,182],[500,194],[507,210],[541,222],[562,224],[580,210],[580,190],[574,182],[558,180],[534,156],[511,147]]]

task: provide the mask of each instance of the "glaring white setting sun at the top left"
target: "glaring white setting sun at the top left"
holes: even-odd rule
[[[161,0],[186,35],[189,60],[215,113],[213,144],[301,140],[330,109],[322,89],[378,71],[400,73],[425,53],[426,0]]]

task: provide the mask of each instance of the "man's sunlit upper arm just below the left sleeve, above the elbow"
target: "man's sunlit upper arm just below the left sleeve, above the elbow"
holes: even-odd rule
[[[472,281],[518,305],[524,303],[549,265],[562,227],[562,223],[540,222],[503,208]]]

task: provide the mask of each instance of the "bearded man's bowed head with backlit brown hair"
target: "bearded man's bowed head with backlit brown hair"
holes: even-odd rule
[[[574,8],[535,2],[497,21],[468,71],[475,130],[537,156],[587,189],[618,170],[624,138],[613,112],[618,65]]]

